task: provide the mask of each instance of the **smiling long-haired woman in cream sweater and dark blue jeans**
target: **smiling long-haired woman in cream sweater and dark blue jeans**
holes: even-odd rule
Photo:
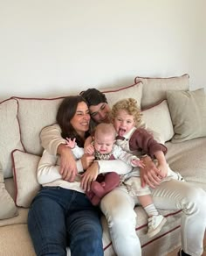
[[[90,122],[89,110],[82,96],[68,96],[60,104],[57,123],[63,138],[76,138],[84,146]],[[84,155],[77,161],[82,172],[93,161]],[[47,151],[38,164],[38,181],[42,189],[29,211],[28,226],[37,255],[103,255],[100,211],[93,207],[80,188],[77,175],[73,182],[59,174],[58,156]]]

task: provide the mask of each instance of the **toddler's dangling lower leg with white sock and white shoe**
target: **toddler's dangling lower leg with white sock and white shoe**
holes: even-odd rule
[[[166,218],[156,210],[151,195],[138,196],[138,199],[148,214],[148,237],[151,238],[161,231]]]

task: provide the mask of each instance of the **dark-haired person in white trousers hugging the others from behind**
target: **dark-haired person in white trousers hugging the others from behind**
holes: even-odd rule
[[[103,120],[106,122],[110,112],[106,97],[97,89],[87,89],[81,95],[86,99],[94,122],[101,123]],[[58,131],[59,128],[55,126],[43,130],[42,144],[52,153],[61,154],[61,172],[66,180],[72,180],[77,172],[76,167],[69,150],[65,151],[62,144],[64,140],[59,138]],[[160,183],[159,170],[154,162],[149,157],[141,160],[145,164],[144,169],[141,169],[141,184],[142,186],[148,184],[151,188],[155,188],[152,190],[154,205],[160,209],[182,210],[182,250],[179,255],[200,256],[203,253],[203,236],[206,226],[205,192],[201,188],[190,186],[187,182],[171,180]],[[119,161],[118,164],[116,161]],[[120,160],[113,160],[109,163],[104,160],[94,162],[86,172],[91,171],[97,174],[113,170],[116,170],[118,174],[126,174],[129,171],[128,166],[123,162],[120,163]],[[90,181],[86,180],[86,175],[81,185],[84,189],[90,188]],[[106,216],[113,248],[118,256],[141,255],[140,240],[135,232],[134,206],[137,204],[139,204],[137,198],[130,196],[124,185],[114,188],[101,200],[100,208]]]

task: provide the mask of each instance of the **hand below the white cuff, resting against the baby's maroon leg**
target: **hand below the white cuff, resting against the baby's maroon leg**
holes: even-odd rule
[[[89,191],[91,188],[91,182],[97,179],[99,174],[99,164],[98,162],[93,162],[92,166],[88,167],[86,172],[81,175],[81,188],[85,191]]]

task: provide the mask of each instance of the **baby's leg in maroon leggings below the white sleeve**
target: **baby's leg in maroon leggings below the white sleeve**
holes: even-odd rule
[[[91,190],[93,193],[102,198],[107,193],[116,188],[120,184],[120,175],[114,172],[105,174],[105,181],[98,182],[93,181],[91,185]]]

